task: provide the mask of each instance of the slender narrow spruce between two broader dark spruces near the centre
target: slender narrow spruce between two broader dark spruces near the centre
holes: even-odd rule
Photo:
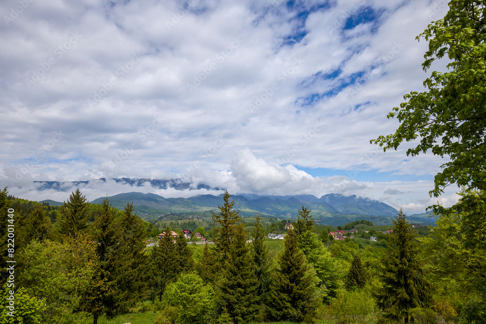
[[[251,242],[251,256],[253,258],[253,267],[258,281],[257,294],[260,297],[260,303],[265,303],[270,290],[270,261],[268,255],[268,246],[265,246],[265,231],[261,225],[260,215],[255,219],[255,229],[252,231],[253,240]]]

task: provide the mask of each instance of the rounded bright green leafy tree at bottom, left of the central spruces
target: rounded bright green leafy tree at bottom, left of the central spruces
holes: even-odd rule
[[[171,283],[164,294],[167,303],[176,308],[177,323],[207,323],[206,317],[215,307],[215,294],[211,285],[194,272],[184,273]]]

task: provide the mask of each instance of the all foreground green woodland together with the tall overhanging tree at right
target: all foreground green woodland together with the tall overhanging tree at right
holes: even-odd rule
[[[170,226],[141,220],[130,203],[91,205],[78,189],[50,206],[3,188],[0,323],[126,323],[126,314],[132,324],[486,323],[485,8],[451,0],[417,36],[429,42],[423,69],[446,58],[448,71],[432,72],[425,91],[393,108],[395,134],[371,140],[385,151],[406,144],[407,155],[448,157],[430,195],[457,185],[460,198],[430,207],[428,235],[417,236],[400,210],[381,246],[338,240],[317,232],[302,206],[271,250],[260,217],[248,233],[226,191],[212,243],[200,251]]]

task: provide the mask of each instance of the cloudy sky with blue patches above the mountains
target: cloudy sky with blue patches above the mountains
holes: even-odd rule
[[[386,115],[403,95],[446,70],[422,69],[416,36],[447,11],[445,0],[2,1],[0,186],[62,202],[69,192],[34,181],[183,179],[356,194],[408,214],[450,206],[457,187],[429,196],[447,157],[370,144],[397,129]]]

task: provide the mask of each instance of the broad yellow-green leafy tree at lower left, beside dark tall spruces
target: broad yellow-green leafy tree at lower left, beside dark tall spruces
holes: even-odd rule
[[[45,305],[43,323],[81,323],[83,296],[96,272],[96,243],[86,235],[66,237],[63,243],[33,240],[19,257],[16,277],[31,297]],[[16,286],[17,286],[16,283]]]

